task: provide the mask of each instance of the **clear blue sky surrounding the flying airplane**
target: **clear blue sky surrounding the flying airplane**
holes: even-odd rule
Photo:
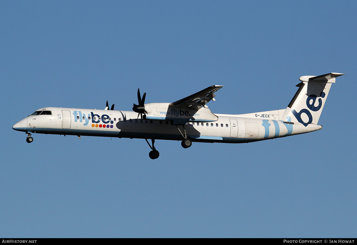
[[[356,237],[356,1],[2,1],[0,237]],[[323,129],[250,144],[12,130],[46,106],[131,110],[224,85],[284,109],[341,72]]]

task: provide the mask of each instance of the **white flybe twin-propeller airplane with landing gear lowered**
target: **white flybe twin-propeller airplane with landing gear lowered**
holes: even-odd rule
[[[133,111],[44,107],[17,122],[12,129],[32,133],[102,136],[145,139],[149,157],[157,159],[156,140],[181,141],[183,148],[192,142],[248,143],[304,134],[322,129],[317,125],[321,111],[336,77],[342,73],[301,76],[298,90],[286,109],[248,114],[213,114],[207,103],[215,100],[221,85],[212,85],[172,103],[145,104],[137,90],[138,105]],[[140,118],[139,118],[140,116]],[[151,145],[148,141],[151,139]]]

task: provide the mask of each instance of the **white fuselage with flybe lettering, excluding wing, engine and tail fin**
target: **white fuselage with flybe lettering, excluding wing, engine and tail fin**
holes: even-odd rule
[[[183,126],[172,120],[144,120],[133,111],[45,107],[37,111],[50,115],[30,115],[13,129],[28,133],[182,140]],[[277,111],[278,112],[278,111]],[[257,112],[261,113],[261,112]],[[303,134],[321,125],[279,120],[274,113],[215,114],[211,122],[187,122],[187,136],[194,142],[243,143]],[[138,118],[139,117],[139,118]]]

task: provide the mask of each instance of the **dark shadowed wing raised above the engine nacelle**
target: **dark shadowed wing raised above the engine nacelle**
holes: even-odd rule
[[[195,108],[197,110],[205,106],[208,101],[212,100],[216,95],[214,94],[218,89],[223,86],[212,85],[203,89],[195,94],[187,96],[181,100],[177,100],[170,104],[172,107]],[[214,100],[214,99],[213,99]]]

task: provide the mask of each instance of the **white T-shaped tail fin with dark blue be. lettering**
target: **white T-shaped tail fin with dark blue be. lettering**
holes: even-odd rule
[[[298,121],[305,127],[308,124],[317,124],[321,111],[336,77],[342,73],[328,73],[320,76],[301,76],[300,84],[295,96],[286,108],[281,120]]]

